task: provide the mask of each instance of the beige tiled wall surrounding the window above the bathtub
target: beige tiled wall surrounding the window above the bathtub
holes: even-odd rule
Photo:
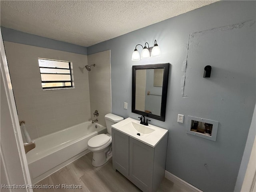
[[[18,118],[37,138],[90,119],[87,56],[4,42]],[[42,90],[38,58],[72,62],[75,88]]]

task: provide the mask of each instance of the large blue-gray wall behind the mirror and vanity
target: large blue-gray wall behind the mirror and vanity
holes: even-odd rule
[[[111,50],[112,113],[124,118],[138,117],[131,112],[132,65],[170,62],[166,121],[150,123],[169,130],[166,170],[203,191],[234,191],[236,184],[256,98],[255,3],[216,2],[87,48],[88,54]],[[230,29],[248,20],[253,22]],[[199,44],[189,50],[186,60],[189,35],[204,30],[208,37],[196,39]],[[160,58],[131,61],[136,44],[153,46],[155,39],[162,51]],[[241,46],[227,47],[236,45],[236,40]],[[214,57],[205,58],[204,53]],[[204,79],[203,68],[208,64],[213,67],[212,77]],[[183,89],[190,95],[182,96]],[[184,124],[177,122],[178,114],[184,114]],[[216,142],[186,134],[188,115],[218,121]]]

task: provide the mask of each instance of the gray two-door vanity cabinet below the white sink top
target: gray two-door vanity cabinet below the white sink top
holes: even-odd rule
[[[167,140],[168,134],[165,134],[153,148],[112,129],[114,170],[118,170],[144,192],[157,191],[164,178]]]

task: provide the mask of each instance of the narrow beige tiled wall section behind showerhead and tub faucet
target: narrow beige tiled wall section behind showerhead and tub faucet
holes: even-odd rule
[[[106,126],[104,116],[111,113],[110,50],[88,55],[87,58],[88,66],[95,64],[89,72],[91,117],[98,118],[98,123]],[[99,112],[98,117],[93,116],[95,110]]]

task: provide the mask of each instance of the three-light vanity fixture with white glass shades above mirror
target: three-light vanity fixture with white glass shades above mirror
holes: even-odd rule
[[[158,47],[156,40],[154,41],[154,47],[149,47],[149,44],[147,47],[146,44],[148,44],[148,42],[145,43],[144,47],[141,44],[138,44],[138,45],[142,46],[142,48],[143,48],[143,50],[141,52],[141,56],[137,50],[138,45],[135,46],[134,52],[132,53],[132,61],[139,61],[140,59],[149,59],[150,58],[150,50],[151,50],[151,57],[160,57],[161,56],[161,50]]]

